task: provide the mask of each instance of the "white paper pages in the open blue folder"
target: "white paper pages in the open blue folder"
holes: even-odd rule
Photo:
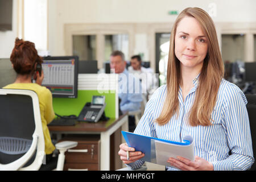
[[[192,137],[186,136],[183,139],[189,140],[191,143],[183,146],[155,140],[156,163],[163,166],[170,166],[170,163],[167,163],[168,158],[176,158],[177,156],[192,161],[195,160]]]

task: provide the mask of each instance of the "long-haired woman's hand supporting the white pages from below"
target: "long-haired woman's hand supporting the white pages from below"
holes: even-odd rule
[[[213,171],[213,164],[208,162],[207,160],[200,158],[199,156],[195,156],[195,161],[182,158],[181,156],[177,156],[175,158],[169,158],[167,160],[171,166],[179,168],[183,171]]]

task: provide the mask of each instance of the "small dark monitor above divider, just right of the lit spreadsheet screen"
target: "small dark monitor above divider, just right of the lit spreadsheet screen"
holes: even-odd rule
[[[79,73],[98,73],[97,60],[79,60]]]

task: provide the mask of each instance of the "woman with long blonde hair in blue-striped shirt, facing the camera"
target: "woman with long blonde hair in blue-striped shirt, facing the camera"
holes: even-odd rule
[[[167,85],[155,91],[134,131],[175,142],[193,137],[195,160],[168,158],[167,170],[246,170],[253,164],[246,97],[223,77],[213,20],[200,8],[184,9],[171,31]],[[144,154],[126,143],[118,154],[131,168],[144,163]]]

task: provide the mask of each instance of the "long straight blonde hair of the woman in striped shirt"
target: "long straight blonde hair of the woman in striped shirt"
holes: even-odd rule
[[[185,16],[191,16],[200,23],[208,40],[207,56],[205,56],[203,68],[201,69],[199,86],[196,90],[195,101],[189,111],[188,121],[191,126],[209,126],[211,125],[210,115],[217,100],[218,88],[221,79],[224,77],[224,64],[213,20],[204,10],[198,7],[184,9],[172,27],[167,65],[167,94],[162,113],[156,119],[156,122],[159,125],[165,125],[175,113],[179,112],[178,92],[181,73],[180,61],[175,56],[174,48],[177,25]]]

